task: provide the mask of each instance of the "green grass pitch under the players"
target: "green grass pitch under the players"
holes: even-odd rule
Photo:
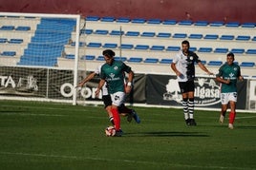
[[[256,169],[256,114],[235,128],[219,112],[134,107],[141,123],[121,118],[122,137],[106,137],[102,106],[0,101],[0,169]]]

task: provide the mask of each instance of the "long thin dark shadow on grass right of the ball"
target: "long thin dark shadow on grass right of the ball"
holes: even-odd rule
[[[127,137],[209,137],[201,132],[139,132],[124,135]]]

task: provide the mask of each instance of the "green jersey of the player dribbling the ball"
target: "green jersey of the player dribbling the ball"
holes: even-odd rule
[[[101,66],[100,78],[107,82],[110,94],[114,94],[117,91],[124,92],[124,72],[129,73],[130,71],[130,66],[114,60],[112,65],[104,64]]]

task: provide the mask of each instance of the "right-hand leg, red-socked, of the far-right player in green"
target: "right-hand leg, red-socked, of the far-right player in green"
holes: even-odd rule
[[[237,93],[229,94],[229,105],[230,105],[230,113],[229,113],[229,123],[228,127],[233,129],[233,123],[235,122],[236,117],[236,102],[237,102]]]

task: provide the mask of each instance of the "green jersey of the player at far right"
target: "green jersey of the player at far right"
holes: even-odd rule
[[[230,80],[230,84],[222,84],[222,93],[237,92],[237,79],[241,76],[240,66],[224,64],[220,67],[219,73],[216,76],[222,77],[224,80]]]

